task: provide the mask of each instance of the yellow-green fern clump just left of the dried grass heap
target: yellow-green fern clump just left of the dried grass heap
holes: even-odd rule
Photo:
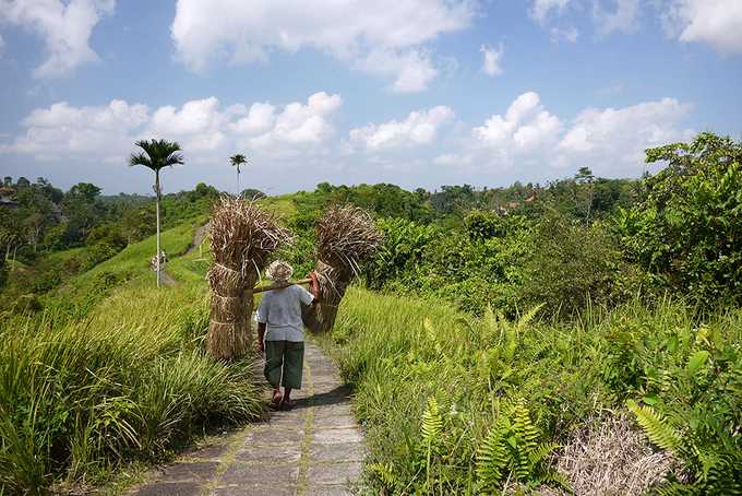
[[[559,446],[539,442],[539,438],[541,433],[524,400],[505,405],[478,450],[476,473],[480,489],[491,493],[506,481],[527,487],[541,484],[566,487],[566,480],[549,465],[549,456]]]

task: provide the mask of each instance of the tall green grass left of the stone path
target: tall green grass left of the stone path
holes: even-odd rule
[[[0,487],[156,460],[192,436],[261,414],[252,364],[202,352],[202,285],[135,282],[81,320],[44,315],[0,328]]]

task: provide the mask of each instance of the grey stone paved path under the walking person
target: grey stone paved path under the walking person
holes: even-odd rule
[[[294,395],[294,394],[292,394]],[[349,495],[358,482],[363,439],[337,368],[306,344],[297,408],[272,413],[164,468],[136,496]]]

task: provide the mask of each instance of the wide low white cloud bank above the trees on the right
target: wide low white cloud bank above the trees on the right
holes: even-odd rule
[[[489,172],[518,169],[542,179],[549,170],[593,168],[606,176],[638,176],[644,150],[691,137],[681,122],[690,106],[673,98],[623,108],[588,108],[572,119],[560,118],[535,92],[516,97],[505,114],[495,114],[471,128],[458,150],[433,163]],[[540,170],[532,174],[534,170]]]

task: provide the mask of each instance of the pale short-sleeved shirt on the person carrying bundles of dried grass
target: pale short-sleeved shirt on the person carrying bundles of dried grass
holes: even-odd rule
[[[314,295],[301,286],[268,291],[258,307],[258,321],[265,323],[265,341],[304,341],[301,304],[309,305]]]

